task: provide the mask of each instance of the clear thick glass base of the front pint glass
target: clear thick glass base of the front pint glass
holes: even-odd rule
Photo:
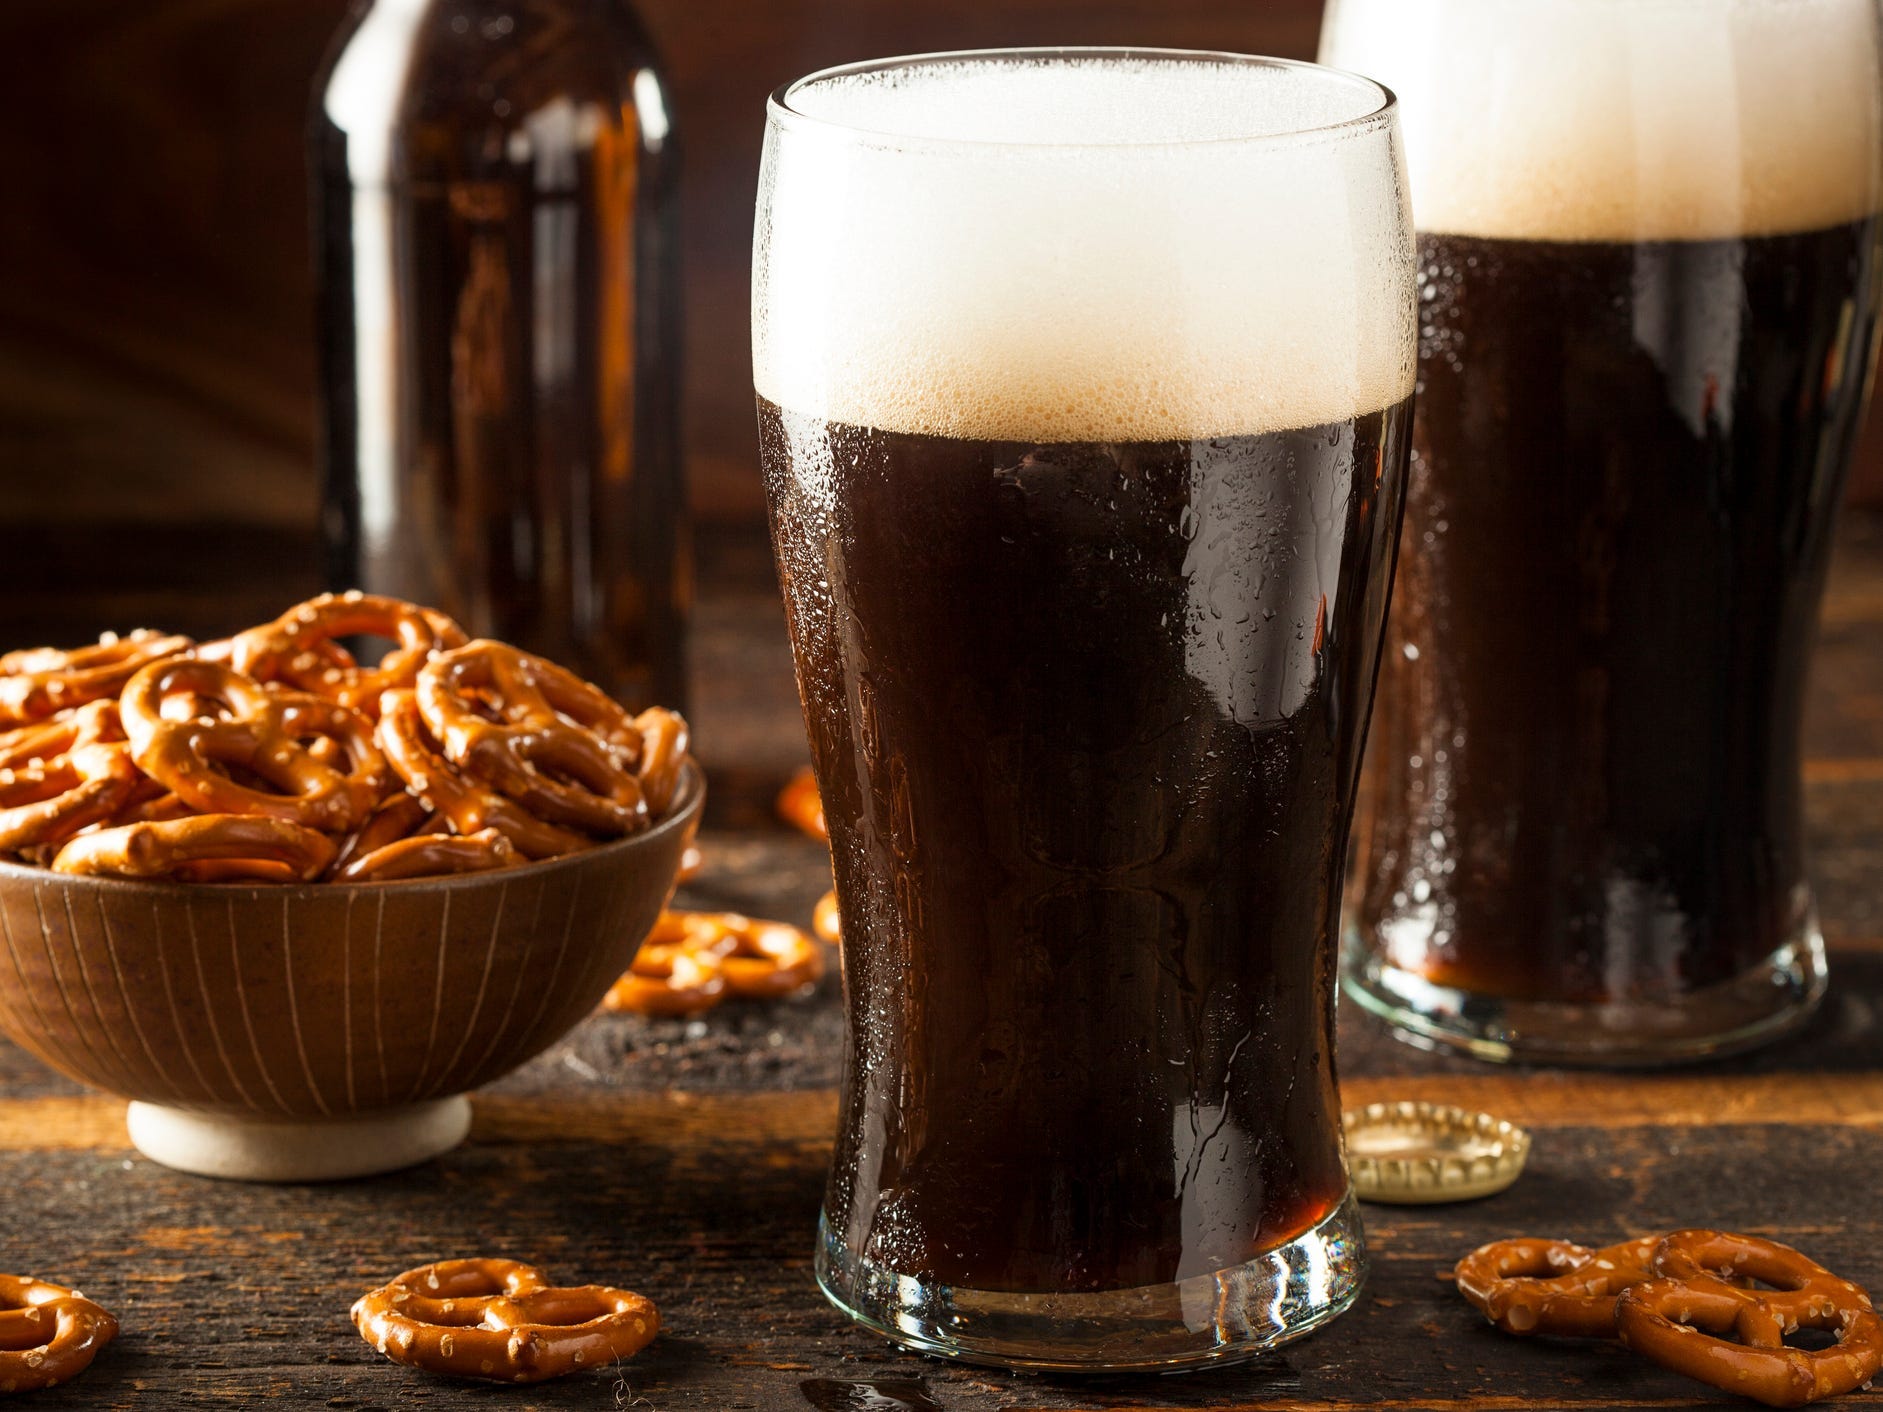
[[[1360,1211],[1331,1216],[1247,1265],[1098,1293],[925,1284],[855,1256],[817,1218],[817,1284],[864,1327],[923,1354],[1000,1369],[1111,1372],[1237,1363],[1318,1329],[1367,1273]]]

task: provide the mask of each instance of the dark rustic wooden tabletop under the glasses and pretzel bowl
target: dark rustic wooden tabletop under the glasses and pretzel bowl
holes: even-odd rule
[[[708,870],[684,902],[806,921],[823,851],[768,819],[802,759],[763,544],[708,546],[695,719],[714,778]],[[279,584],[271,595],[279,595]],[[267,604],[262,604],[267,606]],[[1181,1378],[1011,1376],[904,1354],[812,1282],[834,1124],[834,987],[704,1019],[597,1017],[476,1096],[471,1141],[409,1173],[316,1188],[183,1177],[137,1156],[122,1103],[0,1041],[0,1271],[81,1286],[124,1331],[26,1406],[286,1408],[1665,1408],[1730,1399],[1606,1346],[1486,1327],[1440,1276],[1474,1244],[1589,1244],[1674,1226],[1794,1243],[1883,1286],[1883,520],[1838,548],[1808,727],[1811,866],[1830,1000],[1764,1054],[1640,1075],[1420,1054],[1341,1017],[1348,1103],[1431,1098],[1533,1128],[1506,1194],[1367,1207],[1373,1275],[1329,1329]],[[503,1254],[638,1290],[665,1333],[625,1367],[475,1388],[373,1354],[346,1322],[422,1261]],[[1875,1406],[1883,1393],[1847,1399]],[[1742,1403],[1744,1406],[1744,1403]]]

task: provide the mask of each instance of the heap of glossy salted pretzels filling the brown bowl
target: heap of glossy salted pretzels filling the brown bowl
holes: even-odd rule
[[[377,663],[346,638],[386,638]],[[687,725],[399,599],[322,595],[220,642],[0,655],[0,855],[66,874],[367,883],[652,826]]]

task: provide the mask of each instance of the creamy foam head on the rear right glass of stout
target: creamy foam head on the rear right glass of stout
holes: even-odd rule
[[[1719,239],[1879,201],[1874,0],[1331,0],[1399,96],[1422,232]]]

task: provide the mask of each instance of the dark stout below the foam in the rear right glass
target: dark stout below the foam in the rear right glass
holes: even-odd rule
[[[1414,529],[1358,845],[1388,960],[1661,1000],[1811,926],[1800,698],[1875,243],[1420,239]]]

